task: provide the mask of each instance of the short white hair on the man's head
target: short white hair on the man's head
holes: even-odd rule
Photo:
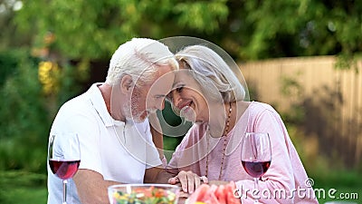
[[[148,38],[132,38],[113,53],[105,83],[115,85],[124,74],[132,76],[138,84],[149,83],[154,81],[160,65],[178,69],[174,54],[165,44]]]

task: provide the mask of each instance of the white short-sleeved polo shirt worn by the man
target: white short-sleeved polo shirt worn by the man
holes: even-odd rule
[[[81,145],[79,169],[99,172],[104,180],[142,183],[145,170],[161,165],[152,142],[148,120],[141,123],[115,121],[107,111],[100,89],[94,83],[80,96],[62,105],[52,123],[50,135],[76,132]],[[80,203],[73,180],[67,200]],[[62,203],[62,180],[48,164],[48,203]]]

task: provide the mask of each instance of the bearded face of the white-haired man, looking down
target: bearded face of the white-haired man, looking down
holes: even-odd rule
[[[165,97],[172,89],[175,79],[175,74],[171,71],[170,66],[160,66],[153,82],[133,88],[130,103],[123,106],[126,119],[135,122],[145,121],[149,113],[165,108]]]

